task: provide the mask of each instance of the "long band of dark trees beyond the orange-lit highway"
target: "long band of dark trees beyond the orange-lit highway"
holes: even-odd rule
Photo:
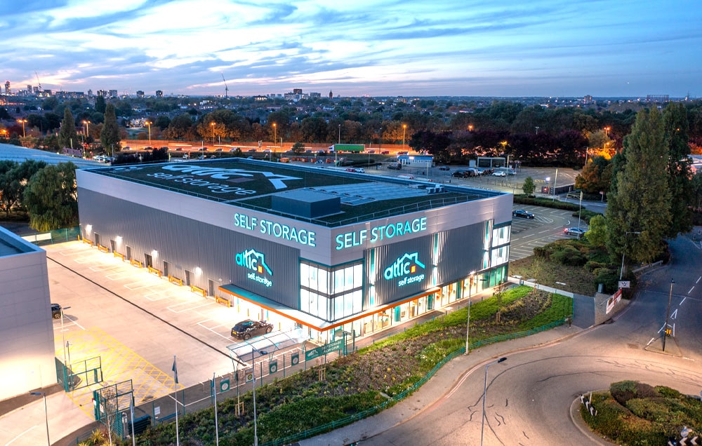
[[[180,107],[173,98],[164,98],[150,102],[151,108],[143,119],[150,122],[154,140],[407,144],[416,151],[429,151],[437,161],[447,163],[477,155],[509,155],[531,165],[577,166],[585,165],[591,152],[609,154],[611,158],[621,151],[623,137],[630,133],[636,116],[633,109],[614,113],[506,101],[484,106],[450,100],[325,101],[324,107],[283,103],[256,108],[251,102],[242,102],[238,107],[230,104],[211,112],[192,107],[177,112]],[[104,97],[96,99],[94,109],[81,108],[85,107],[82,103],[52,104],[53,112],[63,112],[63,120],[53,112],[29,114],[27,127],[41,129],[39,135],[46,135],[34,137],[36,146],[77,147],[77,133],[69,137],[51,133],[56,128],[62,130],[59,135],[63,133],[70,124],[66,122],[66,113],[70,112],[72,128],[81,129],[81,143],[99,142],[102,150],[114,154],[120,149],[119,141],[127,139],[126,123],[134,114],[129,104],[128,100],[105,102]],[[702,106],[699,102],[687,102],[684,107],[689,141],[696,153],[702,151]],[[12,126],[15,138],[17,132],[21,133],[21,126]],[[138,137],[146,139],[147,132]]]

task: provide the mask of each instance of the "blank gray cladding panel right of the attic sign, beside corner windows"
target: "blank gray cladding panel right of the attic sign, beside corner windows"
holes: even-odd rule
[[[458,281],[482,269],[485,222],[437,234],[439,269],[437,285]]]

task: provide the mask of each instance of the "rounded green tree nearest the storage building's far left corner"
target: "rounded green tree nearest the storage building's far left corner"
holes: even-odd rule
[[[29,227],[37,231],[74,227],[78,224],[76,166],[48,165],[32,175],[22,203],[29,212]]]

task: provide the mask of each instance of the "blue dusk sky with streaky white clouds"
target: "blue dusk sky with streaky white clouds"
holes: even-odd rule
[[[702,95],[699,0],[17,0],[11,90]]]

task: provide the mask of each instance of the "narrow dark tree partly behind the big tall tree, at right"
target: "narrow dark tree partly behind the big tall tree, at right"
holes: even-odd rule
[[[692,172],[687,137],[687,110],[683,104],[670,102],[663,110],[665,140],[668,143],[668,189],[670,189],[670,230],[668,237],[692,229]]]

